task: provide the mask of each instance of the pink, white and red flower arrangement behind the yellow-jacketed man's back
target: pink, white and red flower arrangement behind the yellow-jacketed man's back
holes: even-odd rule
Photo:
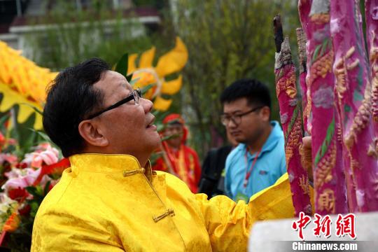
[[[16,144],[16,143],[14,143]],[[0,244],[16,251],[29,251],[36,211],[59,181],[66,159],[48,143],[38,144],[19,158],[0,153]]]

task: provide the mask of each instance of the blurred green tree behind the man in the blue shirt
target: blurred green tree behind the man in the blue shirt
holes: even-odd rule
[[[278,119],[274,88],[272,19],[280,13],[283,30],[295,49],[299,27],[297,1],[177,0],[176,31],[188,47],[183,72],[183,108],[200,156],[225,139],[219,116],[221,92],[239,78],[258,78],[269,85],[272,118]],[[293,58],[296,59],[295,55]],[[209,130],[210,129],[210,130]],[[217,137],[218,136],[218,137]]]

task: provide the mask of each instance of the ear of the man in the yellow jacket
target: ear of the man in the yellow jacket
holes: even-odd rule
[[[104,147],[109,145],[109,140],[102,134],[101,128],[93,120],[83,120],[78,125],[81,137],[92,146]]]

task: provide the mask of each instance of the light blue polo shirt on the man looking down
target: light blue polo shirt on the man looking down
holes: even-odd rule
[[[285,139],[278,122],[272,121],[272,131],[262,146],[260,155],[249,176],[248,184],[244,188],[246,169],[250,169],[257,153],[247,152],[246,145],[239,144],[228,155],[225,163],[225,191],[232,200],[239,200],[240,195],[249,199],[255,193],[272,186],[277,179],[286,173]]]

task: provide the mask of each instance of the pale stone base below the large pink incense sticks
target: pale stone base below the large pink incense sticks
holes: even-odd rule
[[[331,220],[331,236],[325,238],[323,234],[321,234],[321,237],[314,236],[315,224],[314,218],[311,218],[311,223],[303,230],[304,241],[301,244],[311,243],[309,241],[318,241],[318,243],[321,243],[321,241],[337,241],[337,243],[358,244],[358,251],[378,251],[378,212],[356,214],[356,239],[351,239],[349,235],[337,237],[335,235],[337,216],[331,216]],[[293,241],[302,240],[298,237],[298,231],[292,228],[293,221],[298,221],[298,218],[255,223],[249,239],[249,251],[294,251],[293,246],[297,247],[297,244],[293,245]],[[302,251],[305,251],[305,249]]]

